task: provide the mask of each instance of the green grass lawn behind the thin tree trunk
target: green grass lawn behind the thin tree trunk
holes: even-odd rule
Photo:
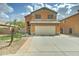
[[[19,40],[21,38],[21,35],[21,33],[15,33],[14,39],[16,38],[16,40]],[[11,34],[1,35],[0,40],[11,40]]]

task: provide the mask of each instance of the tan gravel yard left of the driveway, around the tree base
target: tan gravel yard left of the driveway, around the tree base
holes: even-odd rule
[[[0,55],[8,55],[15,54],[16,51],[24,44],[26,38],[22,38],[20,40],[13,41],[12,45],[9,47],[1,48],[2,46],[8,45],[9,42],[0,41]]]

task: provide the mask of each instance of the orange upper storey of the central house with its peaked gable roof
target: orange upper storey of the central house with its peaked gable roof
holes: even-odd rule
[[[30,15],[25,16],[25,19],[26,20],[27,19],[28,20],[30,20],[30,19],[34,20],[34,19],[40,18],[40,17],[36,18],[37,15],[41,16],[41,19],[49,19],[49,18],[50,19],[56,19],[56,14],[57,13],[55,11],[44,7],[44,8],[41,8],[41,9],[38,9],[38,10],[32,12]],[[48,16],[51,16],[51,17],[48,17]]]

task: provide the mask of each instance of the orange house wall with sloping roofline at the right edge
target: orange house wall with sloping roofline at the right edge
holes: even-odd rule
[[[61,33],[79,35],[79,13],[60,21]]]

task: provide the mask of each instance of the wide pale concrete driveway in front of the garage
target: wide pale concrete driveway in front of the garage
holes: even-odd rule
[[[15,55],[78,56],[79,37],[69,35],[29,37]]]

